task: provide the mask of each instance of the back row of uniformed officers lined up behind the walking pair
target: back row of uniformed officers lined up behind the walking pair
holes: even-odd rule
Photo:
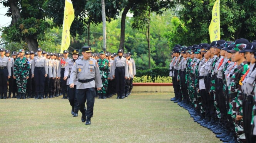
[[[40,48],[38,48],[36,52],[33,52],[33,51],[25,52],[23,49],[21,49],[17,53],[16,51],[10,52],[10,50],[5,50],[3,48],[0,49],[0,51],[1,51],[2,59],[5,57],[5,60],[3,61],[6,62],[6,63],[2,62],[3,64],[1,64],[0,62],[0,67],[1,67],[0,70],[5,71],[1,76],[1,79],[5,79],[5,80],[2,80],[3,88],[1,88],[1,91],[0,91],[1,99],[11,98],[11,94],[13,94],[12,98],[18,98],[18,99],[21,99],[21,98],[44,99],[48,97],[54,98],[60,95],[63,95],[62,99],[69,98],[69,94],[67,94],[67,84],[68,84],[66,81],[67,77],[64,80],[64,77],[65,77],[64,72],[65,72],[65,67],[68,67],[67,66],[68,62],[70,62],[70,60],[72,59],[68,57],[69,53],[67,50],[63,51],[64,54],[45,52],[45,51],[42,51],[42,49]],[[74,52],[74,50],[72,50],[72,52]],[[10,53],[11,53],[11,56],[10,56]],[[23,67],[22,69],[15,69],[15,60],[18,57],[20,57],[21,55],[20,53],[21,54],[23,53],[22,55],[24,55],[24,57],[27,59],[23,62],[28,63],[28,66],[29,66],[28,71],[24,70],[25,67]],[[94,53],[91,56],[92,58],[98,61],[99,67],[101,68],[102,77],[105,78],[104,88],[102,89],[102,91],[99,91],[99,93],[97,94],[99,98],[103,98],[103,99],[109,98],[116,93],[116,87],[114,86],[115,83],[113,78],[114,71],[112,71],[113,74],[111,75],[110,65],[112,66],[114,58],[117,56],[118,55],[116,53],[111,54],[110,52],[107,52],[106,54],[104,52],[103,53],[100,52],[98,54]],[[125,69],[128,68],[131,70],[129,70],[130,72],[126,71],[127,73],[130,73],[130,75],[127,76],[129,77],[128,78],[129,80],[128,79],[124,80],[124,82],[127,83],[125,84],[126,88],[122,89],[123,92],[121,94],[123,93],[124,94],[122,96],[117,97],[117,98],[121,97],[122,99],[127,97],[131,93],[133,76],[136,74],[135,62],[131,58],[131,53],[129,52],[127,54],[124,54],[122,58],[124,57],[127,60],[126,62],[127,65],[125,65]],[[3,69],[4,67],[6,68],[5,70]],[[10,70],[9,70],[9,67],[10,67]],[[17,71],[17,70],[22,70],[23,73],[19,73],[19,74],[22,74],[24,76],[27,76],[28,74],[28,78],[26,81],[17,81],[20,79],[15,79],[16,76],[13,75],[13,73],[15,73],[14,71]],[[10,76],[8,74],[9,71],[10,71]],[[7,84],[5,84],[7,83],[6,80],[8,80],[8,86],[9,86],[8,96],[7,96]],[[17,83],[19,85],[17,85]],[[19,86],[20,88],[17,88],[17,86]],[[107,88],[108,86],[109,88]]]

